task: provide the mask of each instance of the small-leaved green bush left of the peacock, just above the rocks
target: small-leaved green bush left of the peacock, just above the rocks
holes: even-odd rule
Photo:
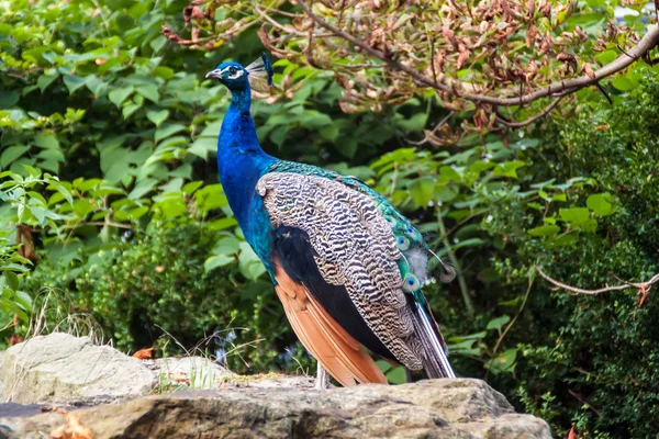
[[[220,359],[231,352],[234,371],[286,369],[291,364],[279,352],[295,339],[282,325],[271,283],[246,281],[231,266],[204,269],[217,235],[190,221],[159,223],[88,257],[82,249],[46,257],[27,285],[34,295],[42,288],[64,291],[74,312],[93,316],[126,352],[156,346],[158,354],[175,354],[181,345],[198,346]]]

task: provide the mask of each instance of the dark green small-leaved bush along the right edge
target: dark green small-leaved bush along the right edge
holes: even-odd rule
[[[523,233],[524,225],[543,224],[528,198],[509,198],[493,211],[490,233],[513,245],[495,257],[506,289],[526,289],[534,262],[554,279],[584,289],[622,283],[611,273],[649,280],[659,271],[659,85],[645,82],[613,109],[583,109],[567,123],[556,122],[545,139],[551,147],[536,154],[556,164],[557,179],[583,176],[585,184],[566,183],[566,203],[543,206],[544,226],[556,224],[556,234]],[[587,221],[594,221],[594,228],[562,221],[579,212],[590,212]],[[515,371],[520,401],[552,421],[557,432],[574,426],[587,437],[654,437],[659,302],[650,293],[639,306],[636,289],[589,296],[550,292],[550,286],[535,279],[511,333],[510,341],[522,344]]]

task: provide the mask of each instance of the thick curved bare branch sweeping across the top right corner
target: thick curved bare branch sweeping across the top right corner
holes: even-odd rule
[[[428,78],[427,76],[421,74],[420,71],[415,70],[414,68],[393,59],[390,55],[386,54],[384,52],[371,47],[366,42],[355,37],[354,35],[351,35],[351,34],[334,26],[333,24],[328,23],[327,21],[323,20],[319,15],[314,14],[312,12],[311,8],[303,0],[299,0],[298,3],[304,10],[306,15],[319,26],[324,27],[327,31],[332,32],[334,35],[346,40],[347,42],[354,44],[355,46],[359,47],[360,49],[368,53],[369,55],[381,59],[389,67],[400,70],[400,71],[404,71],[405,74],[410,75],[410,77],[413,78],[414,80],[416,80],[417,82],[425,85],[427,87],[434,88],[436,90],[439,90],[442,92],[448,93],[450,95],[455,95],[455,97],[468,100],[468,101],[479,102],[479,103],[488,103],[488,104],[498,105],[498,106],[517,106],[517,105],[530,103],[530,102],[536,101],[541,98],[548,98],[548,97],[556,98],[556,97],[561,97],[561,95],[573,93],[577,90],[595,85],[599,81],[601,81],[602,79],[610,77],[614,74],[617,74],[618,71],[624,70],[629,65],[636,63],[638,59],[646,56],[649,53],[649,50],[651,50],[652,48],[655,48],[659,45],[659,25],[652,24],[652,25],[648,26],[648,32],[636,44],[636,46],[634,46],[626,54],[619,56],[614,61],[612,61],[612,63],[603,66],[601,69],[594,71],[594,75],[592,77],[588,76],[588,75],[583,75],[581,77],[554,82],[545,88],[541,88],[541,89],[538,89],[538,90],[535,90],[535,91],[532,91],[532,92],[528,92],[525,94],[521,94],[518,97],[495,98],[495,97],[491,97],[491,95],[472,93],[472,92],[461,93],[455,87],[456,85],[460,85],[460,82],[457,82],[457,81],[456,82],[451,81],[450,85],[444,83],[443,81],[435,81],[435,80]],[[446,79],[444,81],[446,81]]]

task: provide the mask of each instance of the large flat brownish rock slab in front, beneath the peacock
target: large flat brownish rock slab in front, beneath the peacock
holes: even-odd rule
[[[467,379],[328,391],[254,386],[199,391],[69,413],[91,429],[94,439],[551,438],[544,420],[514,413],[484,382]],[[55,413],[0,417],[4,425],[0,438],[41,438],[65,423]]]

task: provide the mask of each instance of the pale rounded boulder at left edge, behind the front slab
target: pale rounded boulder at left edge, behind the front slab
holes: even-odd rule
[[[29,339],[4,353],[2,399],[47,403],[97,395],[144,395],[157,376],[139,360],[88,337],[51,334]]]

